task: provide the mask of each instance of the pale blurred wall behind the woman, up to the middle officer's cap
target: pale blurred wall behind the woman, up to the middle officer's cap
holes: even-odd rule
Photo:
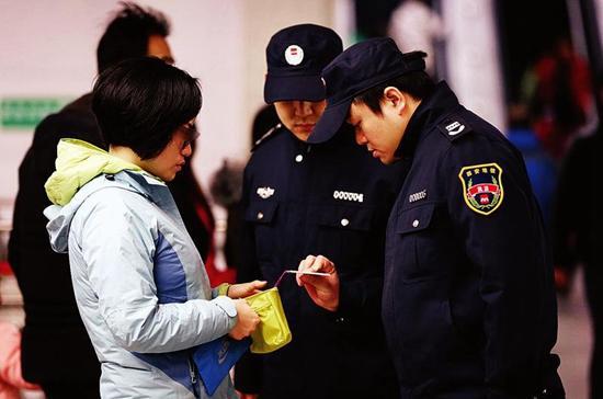
[[[248,156],[251,121],[263,104],[270,36],[294,23],[332,26],[335,2],[342,9],[345,1],[139,1],[169,16],[177,66],[202,82],[202,137],[193,164],[205,186],[223,158]],[[116,8],[113,0],[0,0],[0,96],[76,98],[90,91],[96,43]],[[338,24],[349,26],[345,20],[340,15]],[[31,137],[0,129],[0,198],[16,194],[16,168]]]

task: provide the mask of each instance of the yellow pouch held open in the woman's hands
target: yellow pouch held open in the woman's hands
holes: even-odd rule
[[[278,288],[270,288],[244,298],[260,316],[260,324],[251,333],[252,353],[270,353],[291,342],[291,330],[281,303]]]

